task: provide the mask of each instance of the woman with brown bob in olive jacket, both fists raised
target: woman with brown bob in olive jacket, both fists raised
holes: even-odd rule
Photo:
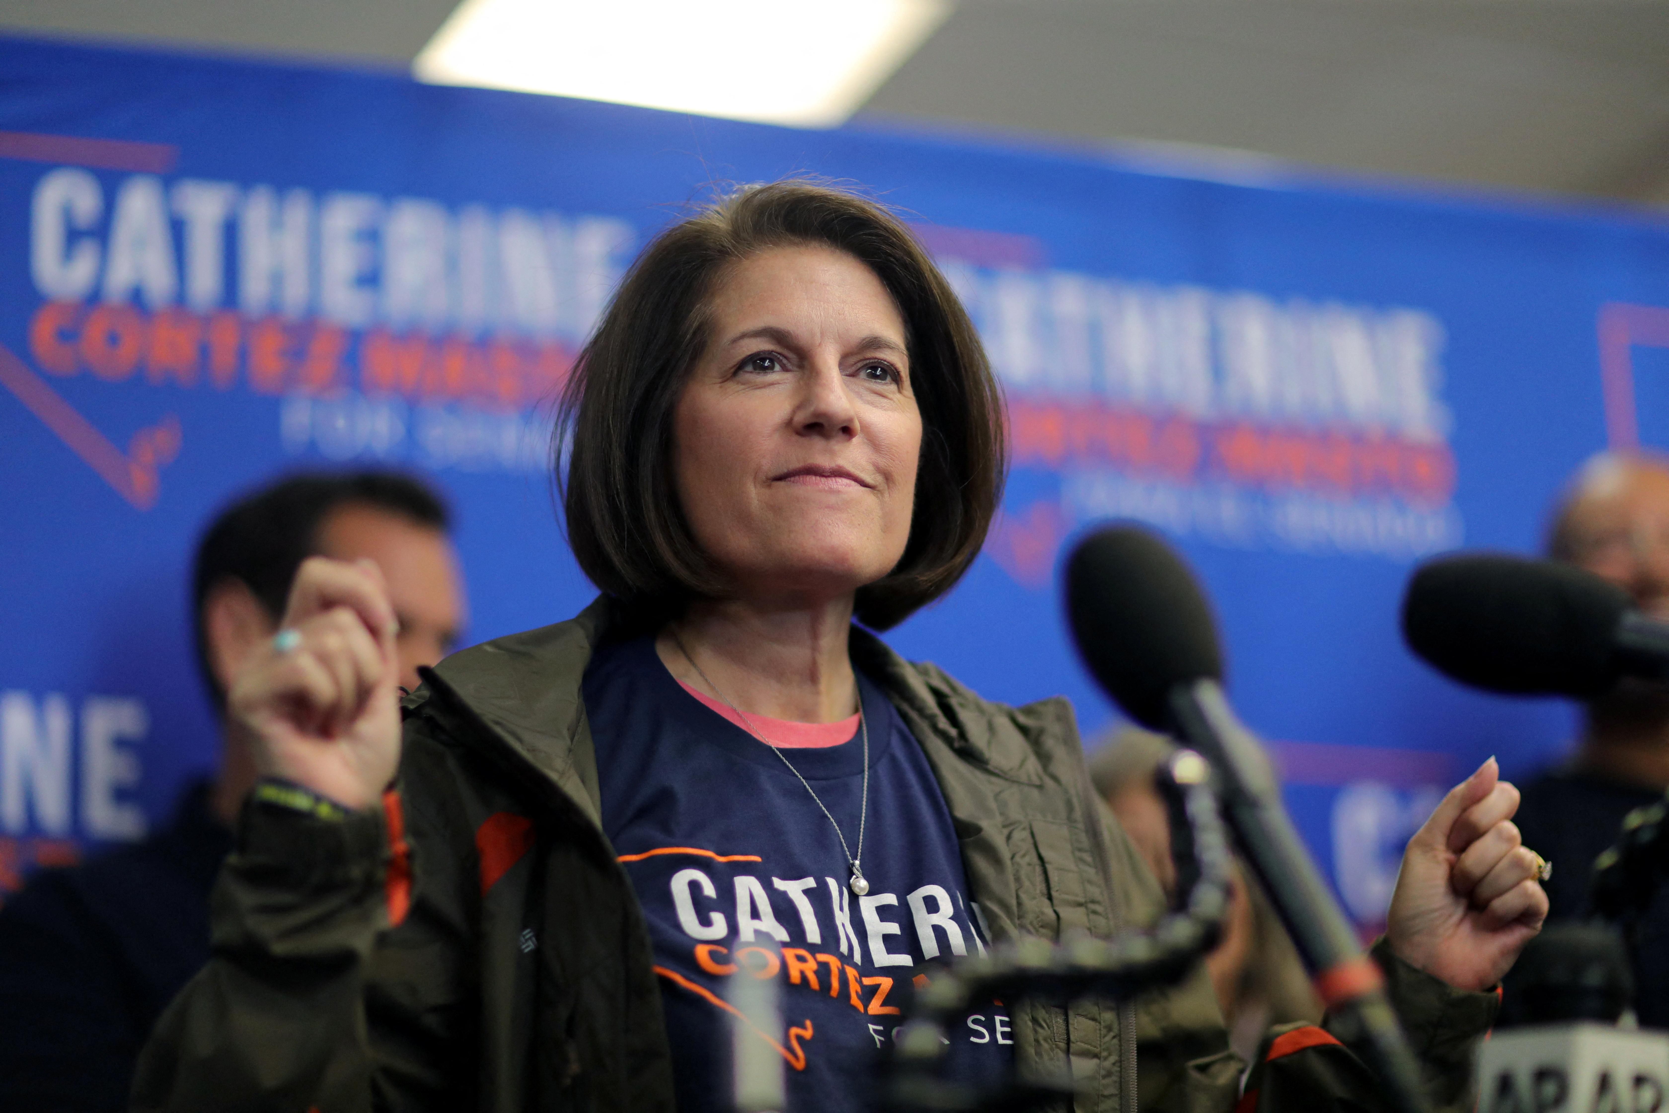
[[[773,980],[781,1025],[736,1038],[784,1108],[863,1110],[923,963],[1160,911],[1065,701],[980,699],[870,632],[950,591],[1003,479],[978,337],[891,214],[781,182],[663,232],[559,434],[603,589],[577,617],[401,699],[377,569],[302,567],[230,694],[264,778],[215,956],[135,1108],[733,1108],[731,986]],[[1379,951],[1450,1101],[1545,911],[1492,769],[1410,843]],[[1302,1046],[1258,1108],[1377,1108],[1337,1040]],[[991,1001],[948,1061],[1070,1068],[1108,1113],[1138,1076],[1143,1108],[1228,1110],[1242,1073],[1203,968],[1140,1010]]]

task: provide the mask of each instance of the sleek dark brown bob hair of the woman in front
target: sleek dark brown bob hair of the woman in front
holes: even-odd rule
[[[644,249],[562,389],[556,472],[569,546],[586,576],[641,617],[726,592],[678,502],[673,410],[706,350],[708,304],[726,269],[786,245],[853,255],[905,319],[921,412],[915,516],[893,571],[858,591],[858,621],[896,626],[950,591],[985,542],[1003,491],[1003,404],[950,282],[865,197],[809,180],[749,185]]]

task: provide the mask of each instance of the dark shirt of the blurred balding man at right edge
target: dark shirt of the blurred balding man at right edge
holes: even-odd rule
[[[1622,834],[1624,816],[1664,798],[1652,788],[1569,769],[1545,773],[1522,793],[1514,823],[1524,844],[1554,864],[1554,876],[1544,883],[1549,923],[1589,916],[1594,859]],[[1634,981],[1641,1025],[1669,1028],[1669,884],[1659,888],[1641,921]]]

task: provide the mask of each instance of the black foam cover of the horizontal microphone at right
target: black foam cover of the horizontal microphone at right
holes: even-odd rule
[[[1402,636],[1462,684],[1587,699],[1617,679],[1617,624],[1629,607],[1621,587],[1569,564],[1449,556],[1409,581]]]

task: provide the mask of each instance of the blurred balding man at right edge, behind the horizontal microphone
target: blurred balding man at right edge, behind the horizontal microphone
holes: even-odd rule
[[[1641,611],[1669,619],[1669,457],[1596,456],[1554,507],[1547,556],[1626,589]],[[1557,868],[1551,919],[1589,913],[1594,858],[1617,841],[1622,818],[1669,789],[1669,691],[1624,681],[1587,704],[1576,753],[1524,786],[1517,824]],[[1669,1028],[1669,893],[1641,924],[1636,1010]]]

